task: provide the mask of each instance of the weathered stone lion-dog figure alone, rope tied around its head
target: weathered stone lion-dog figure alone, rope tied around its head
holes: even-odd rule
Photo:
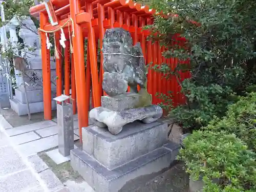
[[[130,91],[137,93],[137,85],[146,83],[145,61],[140,43],[133,46],[131,34],[122,29],[108,29],[103,39],[102,88],[109,96]]]

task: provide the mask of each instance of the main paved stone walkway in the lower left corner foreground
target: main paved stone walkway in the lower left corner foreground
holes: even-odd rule
[[[0,116],[0,191],[68,192],[37,154],[26,157],[7,134],[12,126]]]

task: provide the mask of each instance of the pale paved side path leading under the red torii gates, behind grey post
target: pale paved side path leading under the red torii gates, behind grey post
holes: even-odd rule
[[[58,146],[56,118],[51,121],[40,121],[17,127],[12,127],[1,115],[0,121],[2,121],[2,129],[10,136],[12,143],[18,145],[20,152],[25,156],[34,155]],[[74,140],[78,139],[78,120],[77,115],[74,115]]]

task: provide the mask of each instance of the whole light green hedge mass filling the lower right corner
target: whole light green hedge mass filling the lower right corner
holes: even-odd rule
[[[184,140],[179,159],[205,192],[256,191],[256,93],[240,97],[223,119],[215,118]],[[212,180],[219,178],[219,183]]]

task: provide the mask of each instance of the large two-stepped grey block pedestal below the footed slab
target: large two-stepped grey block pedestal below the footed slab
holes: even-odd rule
[[[71,165],[96,192],[132,192],[175,160],[180,145],[168,143],[167,132],[160,120],[126,124],[118,135],[84,127],[83,150],[71,151]]]

